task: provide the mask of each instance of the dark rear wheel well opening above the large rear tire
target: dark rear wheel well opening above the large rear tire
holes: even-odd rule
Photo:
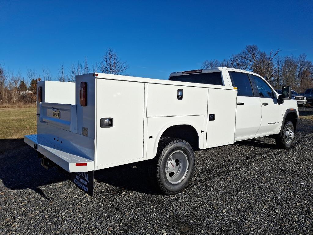
[[[187,141],[193,149],[198,149],[199,137],[196,129],[190,125],[176,125],[167,128],[162,136],[179,138]]]

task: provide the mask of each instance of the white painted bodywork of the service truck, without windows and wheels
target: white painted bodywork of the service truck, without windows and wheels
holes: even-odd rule
[[[197,147],[206,149],[279,134],[288,109],[298,118],[296,102],[278,105],[274,89],[273,99],[237,97],[230,71],[243,72],[201,70],[221,73],[221,85],[103,73],[76,76],[75,83],[40,81],[37,134],[25,142],[69,173],[90,172],[155,158],[172,127],[189,128]],[[177,75],[183,73],[170,80]],[[262,106],[265,101],[269,105]]]

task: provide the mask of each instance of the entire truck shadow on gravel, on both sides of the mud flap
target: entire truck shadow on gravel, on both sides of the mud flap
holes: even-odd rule
[[[40,165],[37,151],[25,144],[22,138],[0,139],[0,160],[0,179],[10,190],[30,189],[49,200],[49,195],[45,195],[39,188],[40,186],[70,180],[69,175],[60,173],[55,167],[49,170],[44,169]],[[121,191],[158,194],[149,180],[138,172],[135,164],[97,170],[95,179],[118,187]],[[59,186],[56,185],[56,187]]]

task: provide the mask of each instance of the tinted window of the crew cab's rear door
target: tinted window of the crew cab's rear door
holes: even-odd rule
[[[253,96],[249,76],[245,73],[229,72],[233,85],[238,88],[238,96]]]

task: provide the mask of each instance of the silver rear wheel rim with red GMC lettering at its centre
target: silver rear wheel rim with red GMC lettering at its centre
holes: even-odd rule
[[[173,152],[167,159],[165,166],[166,178],[172,184],[178,184],[186,177],[189,162],[187,155],[177,150]]]

